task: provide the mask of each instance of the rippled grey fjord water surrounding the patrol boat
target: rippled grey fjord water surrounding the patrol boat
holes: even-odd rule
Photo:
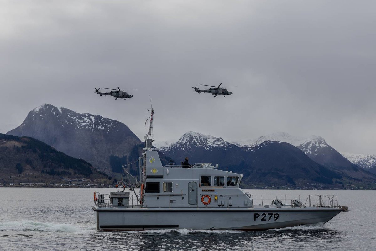
[[[349,206],[351,211],[340,213],[325,225],[256,232],[186,229],[98,232],[91,208],[93,192],[113,190],[0,188],[0,249],[376,250],[375,191],[246,190],[255,195],[302,195],[301,198],[308,194],[338,195],[338,202]]]

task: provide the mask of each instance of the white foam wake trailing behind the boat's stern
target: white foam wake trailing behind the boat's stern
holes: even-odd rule
[[[68,223],[51,223],[39,221],[8,221],[0,223],[0,231],[45,231],[45,232],[65,232],[65,233],[85,233],[95,231],[95,225],[77,226]]]

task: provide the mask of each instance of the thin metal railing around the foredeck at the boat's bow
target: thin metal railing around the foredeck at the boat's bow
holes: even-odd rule
[[[252,195],[255,205],[292,207],[340,207],[337,195]]]

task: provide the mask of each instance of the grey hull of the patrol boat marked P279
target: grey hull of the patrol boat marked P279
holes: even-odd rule
[[[326,223],[340,208],[100,208],[97,230],[268,230]]]

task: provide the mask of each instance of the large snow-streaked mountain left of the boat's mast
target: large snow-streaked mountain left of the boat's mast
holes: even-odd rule
[[[89,113],[43,104],[7,134],[28,136],[107,173],[122,172],[121,164],[137,160],[142,142],[123,123]],[[117,170],[118,169],[118,170]]]

